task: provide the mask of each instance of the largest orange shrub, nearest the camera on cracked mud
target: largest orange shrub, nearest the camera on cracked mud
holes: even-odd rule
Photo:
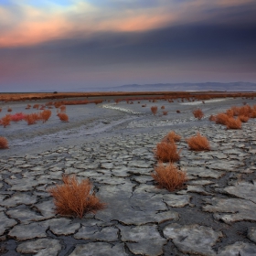
[[[76,176],[62,176],[62,180],[64,184],[48,190],[57,214],[81,219],[85,213],[95,213],[106,207],[98,197],[90,194],[92,185],[89,179],[79,181]]]

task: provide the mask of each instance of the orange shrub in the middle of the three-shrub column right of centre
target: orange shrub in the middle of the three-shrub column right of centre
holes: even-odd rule
[[[155,158],[161,162],[176,162],[179,160],[180,150],[177,151],[176,144],[173,142],[160,142],[156,144]]]

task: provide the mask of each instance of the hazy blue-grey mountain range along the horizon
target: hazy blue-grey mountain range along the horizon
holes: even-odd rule
[[[37,92],[46,92],[37,91]],[[58,90],[52,90],[53,92]],[[68,90],[74,91],[256,91],[256,83],[251,82],[203,82],[203,83],[155,83],[127,84],[116,87],[87,87]]]

